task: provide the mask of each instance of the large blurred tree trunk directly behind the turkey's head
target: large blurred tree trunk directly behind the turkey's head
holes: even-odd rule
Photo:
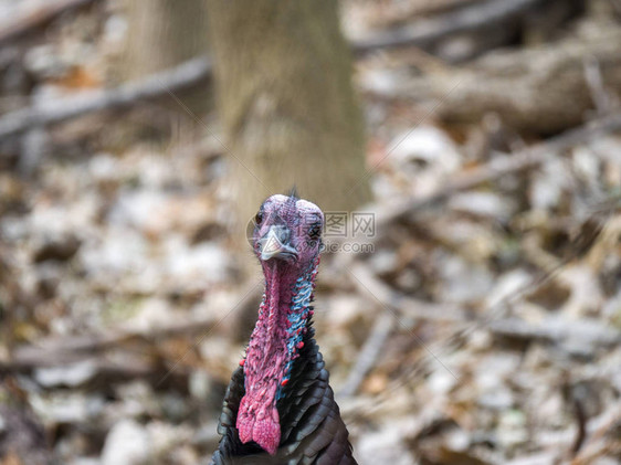
[[[338,3],[207,4],[238,218],[245,223],[294,184],[324,210],[368,201],[364,119]]]

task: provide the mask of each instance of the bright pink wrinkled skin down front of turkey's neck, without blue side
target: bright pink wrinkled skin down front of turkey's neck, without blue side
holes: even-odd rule
[[[263,263],[265,296],[252,332],[244,363],[245,395],[236,426],[242,443],[254,441],[274,455],[281,442],[276,391],[292,358],[287,351],[288,310],[297,273],[294,266]]]

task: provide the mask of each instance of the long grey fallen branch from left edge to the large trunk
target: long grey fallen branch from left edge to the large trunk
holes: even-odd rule
[[[117,88],[90,91],[72,97],[44,101],[2,116],[0,139],[32,129],[34,126],[57,124],[92,112],[125,108],[137,101],[156,98],[193,86],[207,80],[210,74],[211,62],[199,57]]]

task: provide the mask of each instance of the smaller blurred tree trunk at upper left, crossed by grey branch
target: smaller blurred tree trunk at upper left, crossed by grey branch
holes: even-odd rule
[[[125,0],[128,19],[122,77],[131,81],[173,67],[208,51],[203,0]],[[207,89],[183,94],[192,112],[209,107]],[[173,103],[171,108],[178,108]],[[179,110],[183,112],[180,107]]]

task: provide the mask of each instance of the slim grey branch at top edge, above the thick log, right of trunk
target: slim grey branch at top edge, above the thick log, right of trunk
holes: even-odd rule
[[[357,40],[351,46],[358,54],[406,45],[427,47],[449,35],[478,30],[523,14],[538,3],[541,3],[541,0],[491,0],[381,32],[370,39]]]

